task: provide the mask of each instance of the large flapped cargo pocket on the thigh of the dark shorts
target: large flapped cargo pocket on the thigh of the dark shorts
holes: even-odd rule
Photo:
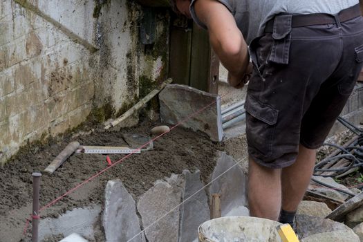
[[[274,128],[279,111],[268,104],[263,104],[252,95],[245,100],[246,134],[249,151],[254,158],[266,160],[272,153]]]

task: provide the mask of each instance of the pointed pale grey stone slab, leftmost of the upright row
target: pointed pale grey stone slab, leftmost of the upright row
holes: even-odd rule
[[[106,241],[128,241],[141,232],[136,203],[121,180],[109,180],[106,185],[102,219]],[[133,241],[145,241],[142,234]]]

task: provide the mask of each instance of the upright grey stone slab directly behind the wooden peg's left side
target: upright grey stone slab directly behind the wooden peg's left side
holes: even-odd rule
[[[200,171],[193,174],[190,171],[183,171],[185,186],[183,201],[192,196],[203,187],[200,179]],[[192,196],[180,206],[180,228],[178,242],[189,242],[198,239],[198,226],[210,219],[210,207],[208,206],[207,194],[204,190]]]

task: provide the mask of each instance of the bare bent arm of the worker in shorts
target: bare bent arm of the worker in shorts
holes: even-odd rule
[[[199,20],[208,28],[210,43],[223,66],[229,71],[229,82],[239,88],[248,68],[250,58],[243,35],[230,11],[216,0],[198,0],[195,11]]]

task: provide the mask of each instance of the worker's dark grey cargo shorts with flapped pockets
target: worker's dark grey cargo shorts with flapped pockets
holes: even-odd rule
[[[292,28],[289,16],[275,17],[273,31],[250,44],[248,152],[270,168],[292,165],[299,144],[323,144],[363,64],[362,17]]]

